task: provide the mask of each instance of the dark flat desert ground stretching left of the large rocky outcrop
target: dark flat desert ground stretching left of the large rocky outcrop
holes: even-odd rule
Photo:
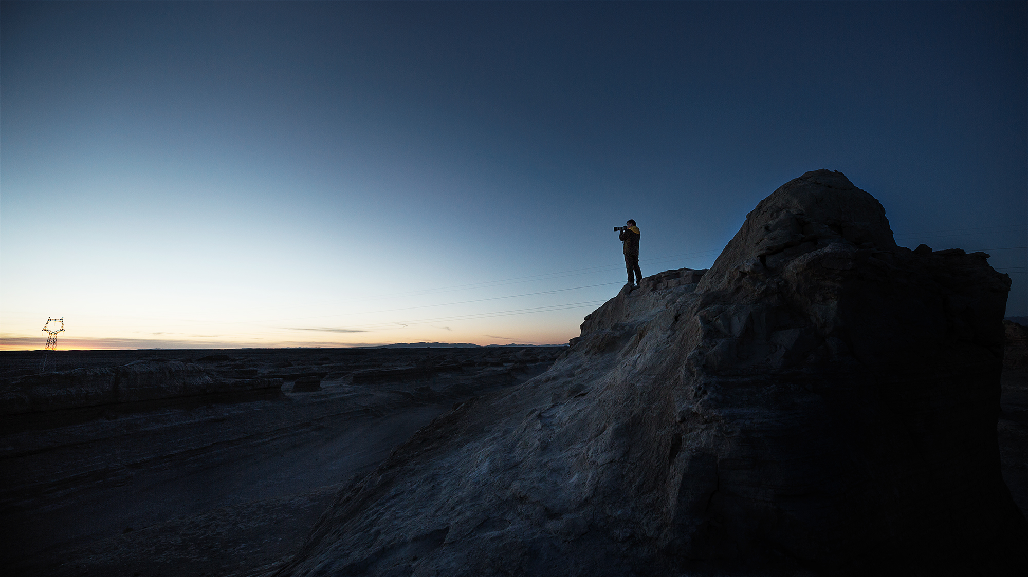
[[[173,351],[160,351],[167,354]],[[2,561],[25,575],[233,575],[298,547],[337,486],[472,395],[523,382],[552,348],[174,351],[213,374],[286,379],[212,395],[5,419]],[[154,351],[71,351],[59,369]],[[38,353],[3,353],[0,378]],[[441,367],[442,370],[435,370]],[[325,375],[293,392],[297,375]],[[355,381],[358,381],[355,384]]]

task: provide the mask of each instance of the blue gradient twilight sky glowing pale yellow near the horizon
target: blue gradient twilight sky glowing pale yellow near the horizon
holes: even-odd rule
[[[3,348],[560,343],[815,168],[1028,315],[1025,2],[0,9]]]

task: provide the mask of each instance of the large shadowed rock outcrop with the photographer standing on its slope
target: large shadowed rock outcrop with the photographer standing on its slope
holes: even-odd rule
[[[281,575],[1023,575],[999,471],[1009,278],[897,247],[815,170],[701,271],[355,476]]]

